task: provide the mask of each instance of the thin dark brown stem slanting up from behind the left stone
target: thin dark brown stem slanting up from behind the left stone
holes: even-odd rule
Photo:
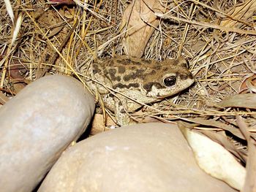
[[[45,76],[46,72],[48,72],[53,67],[56,59],[59,57],[59,53],[61,53],[61,51],[64,49],[64,47],[67,44],[69,38],[71,37],[71,34],[73,34],[73,31],[78,26],[78,23],[79,23],[79,21],[76,20],[75,23],[74,23],[74,26],[70,29],[70,31],[67,34],[67,36],[65,37],[64,41],[61,43],[61,45],[58,49],[59,52],[54,53],[53,58],[50,61],[50,65],[46,66],[45,70],[41,74],[38,75],[38,78]]]

